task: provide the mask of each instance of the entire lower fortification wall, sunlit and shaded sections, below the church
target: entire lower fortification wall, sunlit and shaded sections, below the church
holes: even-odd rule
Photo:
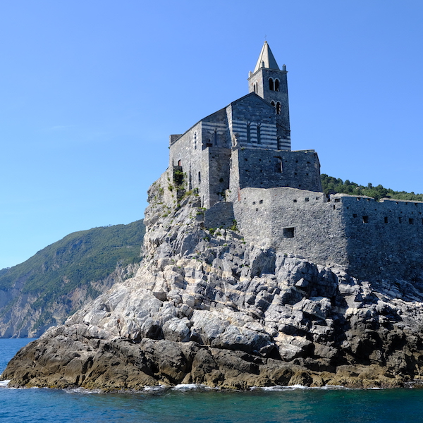
[[[423,203],[293,188],[244,188],[233,204],[246,240],[362,279],[423,283]]]

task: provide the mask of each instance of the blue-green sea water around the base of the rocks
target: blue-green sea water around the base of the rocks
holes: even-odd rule
[[[0,339],[0,373],[31,340]],[[0,383],[0,422],[394,423],[423,422],[422,389],[342,387],[218,391],[193,385],[140,393],[13,389]]]

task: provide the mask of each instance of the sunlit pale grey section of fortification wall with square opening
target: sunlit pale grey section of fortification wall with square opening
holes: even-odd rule
[[[233,209],[247,241],[323,265],[348,266],[341,204],[326,202],[323,192],[244,188]]]

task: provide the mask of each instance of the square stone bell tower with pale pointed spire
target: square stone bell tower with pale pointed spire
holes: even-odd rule
[[[274,106],[278,149],[290,150],[288,81],[286,66],[279,69],[269,44],[265,41],[254,72],[248,75],[249,92],[255,92]]]

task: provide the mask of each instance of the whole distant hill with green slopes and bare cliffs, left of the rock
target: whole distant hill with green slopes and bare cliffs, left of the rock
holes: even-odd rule
[[[140,262],[142,220],[67,235],[26,262],[0,270],[0,337],[39,336],[131,276]]]

